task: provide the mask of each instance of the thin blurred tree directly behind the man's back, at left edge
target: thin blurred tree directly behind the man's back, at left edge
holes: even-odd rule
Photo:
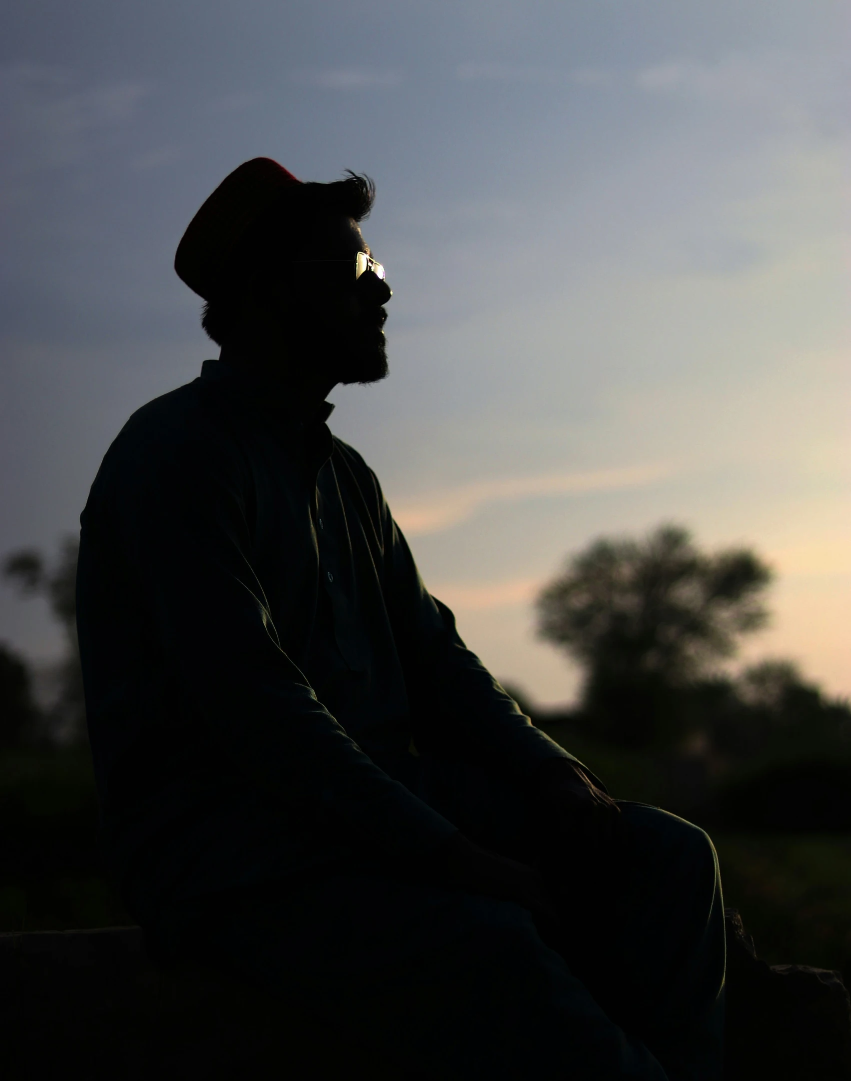
[[[77,743],[85,737],[80,648],[77,642],[77,555],[80,543],[66,536],[56,561],[48,566],[35,548],[12,552],[3,561],[3,576],[24,595],[44,597],[65,632],[66,654],[58,666],[58,694],[48,718],[52,737],[59,743]]]

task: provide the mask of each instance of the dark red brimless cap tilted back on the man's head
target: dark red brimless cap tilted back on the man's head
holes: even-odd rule
[[[282,191],[301,183],[271,158],[252,158],[235,169],[184,232],[174,256],[177,276],[209,301],[249,226],[275,205]]]

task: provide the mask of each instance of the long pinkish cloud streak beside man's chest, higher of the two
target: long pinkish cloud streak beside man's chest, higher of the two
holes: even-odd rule
[[[585,495],[641,488],[669,476],[672,471],[667,466],[643,465],[537,477],[503,477],[450,489],[421,501],[397,504],[394,516],[410,536],[439,533],[490,504],[514,503],[542,495]]]

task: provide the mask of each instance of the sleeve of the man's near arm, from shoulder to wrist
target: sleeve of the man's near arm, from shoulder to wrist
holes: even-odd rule
[[[455,833],[363,753],[281,649],[251,565],[252,485],[236,446],[137,439],[102,471],[83,538],[120,552],[121,574],[135,583],[134,616],[168,683],[234,775],[390,858],[416,859]],[[108,633],[90,628],[87,650]]]

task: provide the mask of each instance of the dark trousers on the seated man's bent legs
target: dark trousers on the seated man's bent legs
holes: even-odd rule
[[[720,1081],[723,907],[702,829],[620,801],[616,840],[589,851],[536,822],[504,776],[373,758],[471,840],[541,869],[559,949],[518,904],[351,849],[304,880],[228,891],[203,919],[184,904],[172,935],[425,1078]]]

